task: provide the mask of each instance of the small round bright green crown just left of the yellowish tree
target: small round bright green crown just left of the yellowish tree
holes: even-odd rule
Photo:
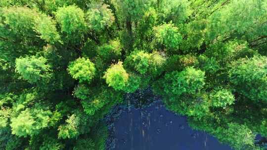
[[[75,79],[79,79],[79,82],[90,83],[95,75],[94,64],[86,58],[78,58],[71,62],[68,66],[68,72]]]

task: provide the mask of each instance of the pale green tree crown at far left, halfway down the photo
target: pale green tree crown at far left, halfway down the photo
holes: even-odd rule
[[[26,56],[16,59],[16,72],[30,83],[36,83],[41,79],[50,77],[50,66],[46,64],[42,56]]]

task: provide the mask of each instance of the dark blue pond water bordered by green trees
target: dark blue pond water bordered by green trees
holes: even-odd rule
[[[113,130],[115,150],[231,150],[213,136],[190,129],[185,117],[160,102],[122,112]]]

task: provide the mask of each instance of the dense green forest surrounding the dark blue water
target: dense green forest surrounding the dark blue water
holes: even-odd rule
[[[147,88],[265,150],[267,0],[0,0],[0,150],[105,150],[102,118]]]

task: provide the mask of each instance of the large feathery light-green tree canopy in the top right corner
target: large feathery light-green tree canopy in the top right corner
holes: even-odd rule
[[[207,40],[240,37],[252,28],[261,28],[259,16],[266,14],[266,0],[232,0],[208,18]]]

